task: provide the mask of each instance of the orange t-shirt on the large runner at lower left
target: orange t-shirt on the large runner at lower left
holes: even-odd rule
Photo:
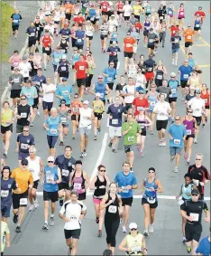
[[[18,188],[20,189],[19,192],[14,192],[14,194],[23,194],[28,190],[29,184],[33,185],[32,173],[28,169],[23,171],[18,167],[13,170],[11,177],[14,178]]]

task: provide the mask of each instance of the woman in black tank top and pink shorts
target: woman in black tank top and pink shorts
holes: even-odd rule
[[[98,174],[91,181],[90,189],[95,189],[93,194],[93,203],[96,211],[96,223],[99,224],[98,237],[102,236],[102,226],[104,223],[104,210],[100,210],[100,203],[106,193],[106,186],[110,184],[109,178],[106,175],[105,166],[97,167]]]

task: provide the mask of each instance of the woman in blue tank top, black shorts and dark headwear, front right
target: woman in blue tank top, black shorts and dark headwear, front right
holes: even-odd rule
[[[162,193],[162,186],[156,177],[155,168],[150,167],[148,170],[149,177],[145,178],[142,183],[141,194],[142,207],[144,211],[144,227],[143,235],[149,236],[149,232],[154,232],[154,214],[158,207],[157,193]],[[150,216],[150,217],[149,217]],[[150,220],[149,220],[150,219]],[[149,224],[150,223],[150,224]],[[148,232],[149,227],[149,232]]]

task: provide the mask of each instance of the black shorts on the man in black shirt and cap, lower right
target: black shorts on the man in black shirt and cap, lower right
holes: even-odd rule
[[[201,223],[189,224],[185,225],[185,233],[186,233],[186,242],[191,242],[195,240],[199,242],[202,232]]]

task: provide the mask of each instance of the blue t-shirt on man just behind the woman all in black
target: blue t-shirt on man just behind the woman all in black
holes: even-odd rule
[[[133,189],[127,190],[126,186],[137,184],[137,180],[134,174],[129,173],[128,175],[124,175],[124,172],[121,171],[115,175],[115,182],[118,184],[118,187],[122,188],[122,192],[118,193],[122,198],[133,197]]]

